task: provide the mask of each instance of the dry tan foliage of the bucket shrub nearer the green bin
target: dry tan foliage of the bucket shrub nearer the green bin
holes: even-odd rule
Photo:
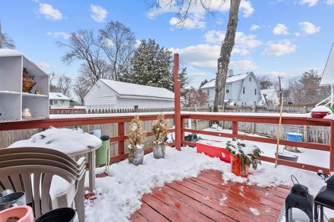
[[[129,162],[134,159],[134,153],[136,153],[137,148],[143,148],[143,143],[145,142],[146,135],[143,132],[142,121],[139,117],[134,117],[130,122],[129,134],[127,135],[126,142],[129,143]]]

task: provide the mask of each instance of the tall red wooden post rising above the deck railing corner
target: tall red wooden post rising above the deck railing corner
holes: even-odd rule
[[[174,54],[174,110],[175,110],[175,146],[181,150],[181,84],[179,81],[179,54]]]

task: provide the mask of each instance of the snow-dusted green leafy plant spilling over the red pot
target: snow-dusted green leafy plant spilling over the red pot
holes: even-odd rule
[[[241,174],[246,173],[247,167],[252,165],[253,169],[257,169],[257,165],[261,164],[260,148],[255,145],[248,145],[237,139],[236,141],[228,141],[226,143],[226,151],[231,155],[240,159],[238,167],[241,167]]]

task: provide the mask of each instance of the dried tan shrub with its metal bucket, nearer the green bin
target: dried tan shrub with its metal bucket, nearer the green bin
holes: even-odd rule
[[[143,143],[145,142],[146,136],[143,133],[142,122],[139,117],[134,117],[130,122],[128,139],[126,142],[129,143],[129,163],[136,166],[143,164],[145,148]]]

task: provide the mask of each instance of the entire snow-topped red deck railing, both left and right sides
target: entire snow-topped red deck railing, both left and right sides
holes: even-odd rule
[[[118,143],[118,153],[115,156],[111,157],[111,162],[116,162],[124,160],[127,158],[127,153],[125,153],[125,123],[131,121],[134,118],[133,113],[128,114],[73,114],[67,118],[61,118],[61,115],[52,116],[51,119],[43,120],[33,120],[33,121],[16,121],[16,122],[7,122],[0,123],[0,130],[22,130],[22,129],[31,129],[31,128],[48,128],[49,126],[54,127],[64,127],[64,126],[83,126],[83,125],[93,125],[93,124],[106,124],[106,123],[117,123],[118,124],[118,135],[110,138],[111,142]],[[157,118],[157,113],[142,113],[138,114],[141,120],[151,121]],[[68,118],[70,117],[70,118]],[[165,117],[167,119],[177,119],[177,114],[174,112],[166,112]],[[170,146],[176,145],[177,148],[180,148],[179,145],[191,145],[195,144],[191,142],[184,141],[184,133],[200,133],[203,135],[213,135],[217,137],[243,137],[246,140],[254,142],[263,142],[267,144],[276,144],[276,139],[266,138],[266,137],[255,137],[250,135],[243,135],[238,133],[238,123],[239,122],[251,122],[251,123],[273,123],[278,124],[279,117],[275,114],[245,114],[245,113],[212,113],[212,112],[181,112],[180,120],[175,121],[175,129],[170,129],[169,132],[175,132],[175,134],[181,134],[179,136],[175,135],[176,139],[180,138],[180,141],[170,143]],[[232,121],[232,133],[220,133],[220,132],[211,132],[203,130],[193,130],[184,128],[184,119],[204,119],[212,121]],[[296,167],[299,169],[306,169],[310,171],[318,171],[319,169],[323,170],[325,173],[330,173],[334,171],[334,120],[332,119],[312,119],[301,115],[295,116],[283,116],[282,123],[285,125],[302,125],[302,126],[328,126],[331,128],[331,143],[326,144],[316,144],[316,143],[307,143],[307,142],[292,142],[285,139],[280,140],[281,145],[287,146],[298,146],[302,148],[310,148],[317,151],[327,151],[330,156],[329,169],[324,167],[317,167],[310,164],[304,164],[299,162],[290,162],[287,160],[278,160],[278,164],[287,165],[289,167]],[[148,136],[153,135],[152,132],[147,133]],[[182,139],[183,138],[183,139]],[[149,148],[147,152],[150,152]],[[275,152],[275,151],[273,151]],[[266,162],[274,162],[273,157],[262,156],[262,160]]]

